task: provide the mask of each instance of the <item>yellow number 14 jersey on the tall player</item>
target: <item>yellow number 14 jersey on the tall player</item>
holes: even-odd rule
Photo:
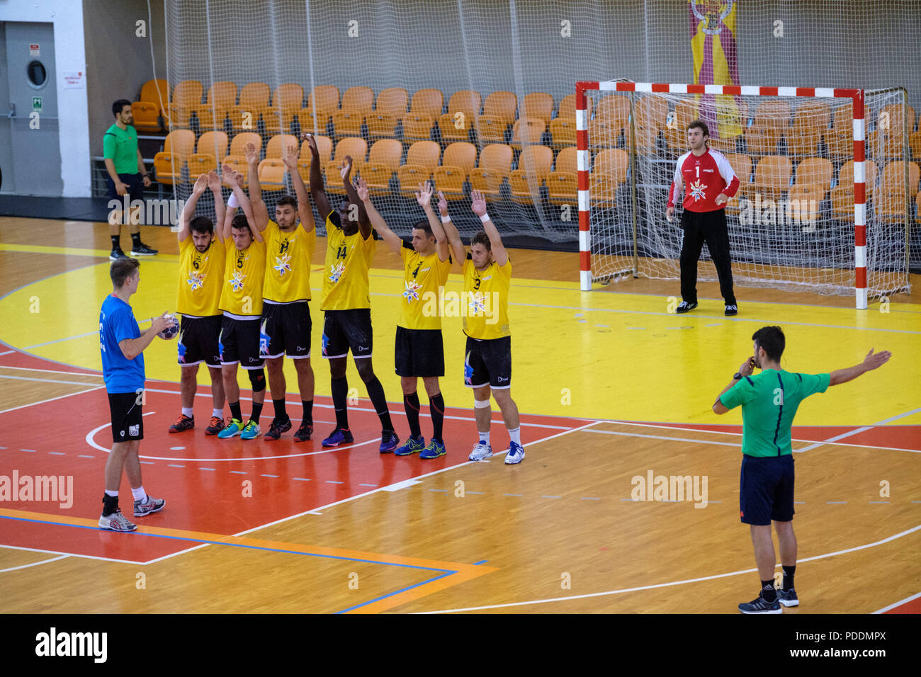
[[[339,226],[339,213],[326,217],[326,264],[323,267],[321,310],[370,308],[367,269],[377,243],[373,233],[363,238],[358,230],[345,235]]]

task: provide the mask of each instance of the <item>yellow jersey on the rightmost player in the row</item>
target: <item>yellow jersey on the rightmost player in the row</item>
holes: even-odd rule
[[[511,286],[511,278],[511,261],[502,266],[494,261],[484,271],[478,271],[468,252],[463,263],[463,333],[475,339],[511,336],[508,330],[508,287]]]

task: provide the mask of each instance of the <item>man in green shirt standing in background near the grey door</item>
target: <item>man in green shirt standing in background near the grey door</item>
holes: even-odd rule
[[[144,158],[137,148],[137,131],[134,129],[134,114],[131,112],[131,101],[118,99],[112,104],[112,114],[115,124],[106,130],[102,137],[102,157],[106,161],[106,184],[109,186],[109,200],[116,200],[120,204],[127,194],[129,202],[144,200],[144,188],[150,185],[150,176],[144,167]],[[143,183],[143,187],[142,187]],[[138,224],[138,215],[132,213],[128,219],[128,230],[131,232],[131,255],[153,256],[157,250],[151,249],[141,241],[141,226]],[[109,234],[112,239],[112,251],[109,254],[111,261],[127,259],[122,251],[122,208],[111,210],[109,216]]]

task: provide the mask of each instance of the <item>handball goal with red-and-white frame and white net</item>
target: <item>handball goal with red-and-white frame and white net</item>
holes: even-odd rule
[[[687,126],[739,177],[727,217],[733,281],[867,298],[908,289],[911,208],[903,89],[580,83],[582,286],[679,279],[683,194],[666,220]],[[916,179],[915,179],[916,181]],[[582,187],[582,186],[580,186]],[[586,252],[590,252],[587,262]],[[701,280],[716,271],[704,251]]]

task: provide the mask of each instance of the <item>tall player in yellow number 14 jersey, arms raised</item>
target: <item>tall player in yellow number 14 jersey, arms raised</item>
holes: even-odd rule
[[[352,158],[346,156],[342,166],[342,180],[347,197],[332,209],[323,188],[320,173],[320,153],[312,134],[307,134],[310,147],[310,194],[317,210],[326,221],[326,265],[323,269],[323,356],[330,360],[332,404],[336,411],[336,427],[330,437],[323,440],[324,447],[338,447],[355,441],[348,428],[348,380],[345,378],[345,359],[348,351],[365,382],[367,395],[380,419],[380,451],[397,448],[397,437],[387,409],[384,387],[380,385],[371,367],[371,297],[367,286],[367,269],[374,257],[375,241],[371,222],[349,179]]]

